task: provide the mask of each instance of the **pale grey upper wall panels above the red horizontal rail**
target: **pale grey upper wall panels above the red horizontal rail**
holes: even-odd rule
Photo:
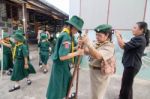
[[[144,20],[145,5],[146,0],[71,0],[70,16],[82,17],[84,29],[108,23],[115,29],[127,30]]]

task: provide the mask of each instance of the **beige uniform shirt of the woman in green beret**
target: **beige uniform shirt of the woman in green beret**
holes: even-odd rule
[[[104,43],[93,43],[94,48],[96,48],[99,53],[102,55],[103,60],[107,60],[114,55],[114,44],[110,41],[106,41]],[[90,66],[91,67],[100,67],[100,63],[102,59],[94,59],[90,57]]]

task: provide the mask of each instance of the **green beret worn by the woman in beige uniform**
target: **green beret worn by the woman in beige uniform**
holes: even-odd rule
[[[95,29],[94,29],[97,33],[100,33],[100,32],[107,32],[107,31],[110,31],[112,30],[112,26],[111,25],[108,25],[108,24],[102,24],[102,25],[99,25],[97,26]]]

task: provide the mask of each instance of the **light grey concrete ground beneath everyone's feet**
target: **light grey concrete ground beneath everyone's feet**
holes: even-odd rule
[[[38,52],[36,45],[30,46],[31,62],[34,65],[37,73],[31,75],[32,85],[28,86],[26,80],[20,82],[21,89],[15,92],[9,93],[9,88],[12,87],[14,82],[10,81],[10,77],[7,75],[3,76],[0,80],[0,99],[46,99],[46,91],[50,77],[51,63],[49,60],[49,73],[43,74],[39,70],[38,66]],[[104,99],[117,99],[121,85],[121,75],[114,75],[111,78],[107,93]],[[150,99],[150,81],[144,79],[135,79],[133,86],[134,99]],[[90,99],[90,79],[88,70],[80,70],[79,80],[79,99]]]

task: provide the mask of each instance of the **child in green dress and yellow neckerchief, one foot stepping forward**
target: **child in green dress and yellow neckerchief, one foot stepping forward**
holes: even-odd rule
[[[21,34],[15,33],[15,46],[13,48],[13,59],[14,59],[14,68],[11,76],[11,80],[15,81],[15,85],[9,90],[9,92],[20,89],[19,81],[27,78],[27,84],[30,85],[32,82],[28,78],[30,73],[35,73],[35,70],[32,64],[28,60],[28,49],[27,46],[23,43],[24,37]]]

